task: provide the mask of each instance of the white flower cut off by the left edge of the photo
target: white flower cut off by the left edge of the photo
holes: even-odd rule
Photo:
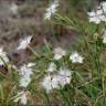
[[[7,53],[3,51],[3,47],[0,47],[0,65],[4,65],[4,62],[8,63],[9,59],[7,56]]]

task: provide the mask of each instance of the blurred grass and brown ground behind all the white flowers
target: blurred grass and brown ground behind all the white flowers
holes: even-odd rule
[[[60,0],[57,14],[51,21],[45,21],[43,18],[52,0],[0,0],[0,2],[2,6],[0,7],[0,45],[4,46],[11,62],[18,66],[28,60],[36,62],[35,75],[32,76],[33,80],[28,86],[31,102],[28,106],[106,106],[106,62],[104,60],[106,49],[100,36],[103,28],[106,26],[104,22],[99,25],[88,23],[86,13],[96,8],[96,0]],[[18,14],[10,12],[11,2],[18,4]],[[19,40],[28,34],[33,35],[31,47],[40,53],[41,59],[31,55],[29,50],[21,52],[14,50]],[[73,65],[68,54],[60,62],[54,61],[51,52],[60,45],[68,50],[68,53],[77,50],[85,57],[84,64]],[[63,62],[75,73],[71,85],[66,85],[62,91],[54,89],[52,95],[47,95],[40,88],[38,82],[44,76],[44,71],[52,61],[59,67]],[[15,88],[18,73],[10,70],[8,74],[4,72],[2,74],[2,71],[0,105],[14,106],[13,99],[9,98],[18,92]],[[20,103],[18,106],[21,106]]]

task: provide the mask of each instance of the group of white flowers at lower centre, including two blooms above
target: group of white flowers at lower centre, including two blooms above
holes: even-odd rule
[[[60,59],[66,55],[66,51],[62,47],[54,49],[53,53],[54,60],[56,61],[60,61]],[[75,52],[70,55],[70,60],[72,61],[72,63],[83,63],[84,57]],[[73,71],[70,71],[66,67],[60,67],[56,74],[51,74],[54,71],[57,71],[56,64],[51,62],[47,67],[49,74],[43,78],[43,82],[41,83],[46,92],[51,92],[53,88],[64,87],[66,84],[70,84],[72,80]]]

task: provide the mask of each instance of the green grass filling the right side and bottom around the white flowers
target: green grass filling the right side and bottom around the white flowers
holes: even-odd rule
[[[91,6],[92,0],[89,2],[88,0],[71,0],[68,2],[73,8],[78,9],[77,7],[82,7],[82,4]],[[86,8],[85,6],[84,8]],[[32,81],[26,88],[19,86],[19,73],[12,68],[12,64],[4,64],[8,72],[7,74],[0,72],[0,106],[21,106],[20,102],[13,102],[15,94],[21,89],[29,94],[28,106],[52,106],[52,102],[53,106],[106,106],[106,60],[103,60],[106,55],[106,44],[103,43],[102,36],[105,23],[88,23],[78,18],[64,17],[59,13],[55,13],[52,22],[67,30],[74,30],[77,33],[74,43],[70,45],[66,55],[60,60],[53,59],[53,49],[46,40],[44,40],[41,53],[36,53],[29,46],[33,53],[35,66],[31,76]],[[82,64],[73,63],[70,60],[70,55],[74,51],[83,55]],[[60,88],[47,93],[42,88],[41,82],[47,74],[46,70],[51,62],[55,63],[57,67],[55,72],[49,74],[54,75],[60,67],[67,67],[73,71],[73,74],[70,84],[60,85]]]

